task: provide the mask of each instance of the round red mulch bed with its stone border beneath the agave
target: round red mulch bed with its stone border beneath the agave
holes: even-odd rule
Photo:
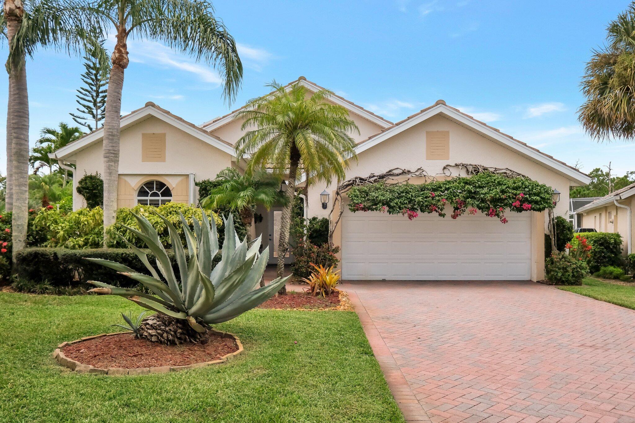
[[[80,373],[109,375],[166,373],[224,363],[243,351],[237,337],[210,330],[197,344],[166,346],[130,332],[85,337],[58,346],[53,357]]]

